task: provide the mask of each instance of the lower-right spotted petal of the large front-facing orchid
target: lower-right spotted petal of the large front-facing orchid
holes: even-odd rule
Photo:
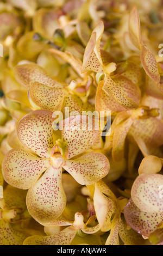
[[[108,174],[110,164],[102,153],[87,153],[75,160],[65,160],[62,167],[81,185],[92,185]]]

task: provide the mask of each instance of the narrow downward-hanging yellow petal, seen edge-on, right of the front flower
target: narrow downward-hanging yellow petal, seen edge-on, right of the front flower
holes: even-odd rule
[[[123,121],[114,129],[114,138],[112,144],[112,158],[115,161],[122,160],[124,156],[124,144],[126,141],[127,133],[133,124],[133,118],[129,117],[127,120]]]

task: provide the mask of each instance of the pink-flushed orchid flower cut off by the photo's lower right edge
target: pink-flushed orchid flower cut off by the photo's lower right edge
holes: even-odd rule
[[[141,173],[135,179],[131,187],[131,199],[124,207],[124,217],[132,229],[149,241],[154,241],[154,244],[159,244],[163,241],[163,176],[151,173],[153,167],[149,168],[149,173]]]

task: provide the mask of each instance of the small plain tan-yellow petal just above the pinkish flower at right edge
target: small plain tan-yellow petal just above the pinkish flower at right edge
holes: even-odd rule
[[[143,160],[140,163],[139,175],[143,173],[146,173],[146,174],[158,173],[160,172],[161,168],[162,168],[162,162],[159,157],[146,156],[143,158]]]

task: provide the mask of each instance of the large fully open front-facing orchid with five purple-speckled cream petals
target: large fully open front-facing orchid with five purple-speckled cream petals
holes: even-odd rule
[[[81,123],[82,116],[78,117]],[[74,130],[75,117],[65,119],[62,122],[64,129],[61,140],[57,141],[53,141],[53,120],[52,112],[46,110],[24,116],[17,125],[18,138],[38,156],[26,150],[12,149],[5,155],[2,165],[2,173],[8,184],[28,189],[28,211],[44,225],[53,223],[65,209],[62,168],[82,185],[93,184],[109,170],[109,161],[101,153],[87,153],[72,159],[91,148],[96,140],[98,131],[85,129],[90,127],[88,117],[82,126],[85,130],[80,131],[79,122]]]

